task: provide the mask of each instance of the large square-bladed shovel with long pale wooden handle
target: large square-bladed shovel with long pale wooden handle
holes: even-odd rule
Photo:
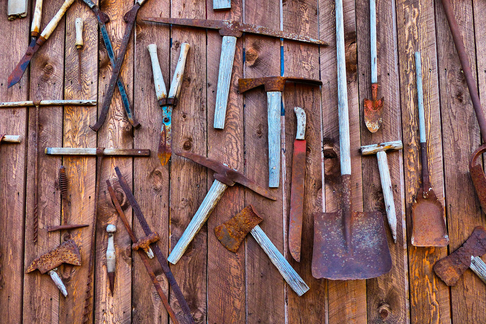
[[[374,278],[389,272],[392,264],[383,215],[352,209],[342,0],[336,0],[336,36],[343,205],[338,212],[314,213],[312,275],[333,280]]]

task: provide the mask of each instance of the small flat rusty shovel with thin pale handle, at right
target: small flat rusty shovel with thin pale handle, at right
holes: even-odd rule
[[[420,52],[415,53],[415,66],[417,70],[417,105],[420,128],[422,185],[412,205],[413,231],[411,243],[415,246],[447,246],[449,244],[449,235],[447,234],[444,217],[444,206],[442,206],[435,196],[429,179]]]

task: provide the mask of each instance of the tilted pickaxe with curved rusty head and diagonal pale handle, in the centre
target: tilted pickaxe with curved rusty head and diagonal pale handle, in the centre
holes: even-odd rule
[[[174,249],[172,250],[169,257],[167,258],[167,260],[169,260],[169,262],[173,264],[176,264],[177,261],[179,261],[181,256],[186,251],[189,243],[191,243],[192,239],[194,239],[194,236],[196,236],[197,232],[199,232],[203,224],[208,220],[209,215],[211,214],[214,207],[216,207],[216,204],[223,196],[223,193],[225,192],[226,188],[228,188],[228,186],[231,187],[234,186],[235,183],[239,183],[240,185],[243,185],[255,191],[263,197],[277,200],[277,198],[272,196],[268,192],[268,190],[245,177],[243,173],[232,169],[227,164],[211,160],[206,156],[202,156],[192,152],[180,152],[175,154],[191,159],[192,161],[199,163],[208,169],[211,169],[212,171],[214,171],[215,180],[211,188],[209,189],[208,194],[199,206],[199,209],[197,209],[194,217],[192,217],[191,222],[187,226],[186,230],[182,234],[177,244],[175,244]]]

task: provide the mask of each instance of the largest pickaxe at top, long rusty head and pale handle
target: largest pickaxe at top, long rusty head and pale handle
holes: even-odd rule
[[[236,38],[243,33],[258,34],[270,37],[295,40],[298,42],[312,43],[318,45],[329,45],[329,43],[309,36],[287,33],[267,27],[244,24],[234,20],[208,20],[208,19],[183,19],[183,18],[159,18],[144,17],[142,20],[173,24],[181,26],[199,27],[204,29],[215,29],[223,36],[221,45],[221,57],[219,61],[218,85],[216,87],[216,108],[214,110],[214,128],[225,128],[226,106],[228,103],[229,84],[233,70],[235,57]],[[280,102],[278,103],[280,104]],[[280,111],[280,110],[278,110]]]

